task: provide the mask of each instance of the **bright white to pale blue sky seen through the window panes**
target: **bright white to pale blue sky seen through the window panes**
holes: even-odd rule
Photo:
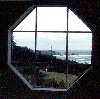
[[[14,31],[35,31],[36,9],[33,10]],[[37,31],[66,31],[66,7],[38,7]],[[69,31],[90,31],[90,29],[70,10]],[[34,50],[35,32],[13,32],[14,41],[18,46],[27,46]],[[92,33],[69,33],[69,50],[91,50]],[[66,33],[37,32],[37,50],[65,50]]]

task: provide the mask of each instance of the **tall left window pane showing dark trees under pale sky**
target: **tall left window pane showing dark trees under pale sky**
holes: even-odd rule
[[[34,46],[34,32],[13,32],[11,62],[30,83],[35,84]]]

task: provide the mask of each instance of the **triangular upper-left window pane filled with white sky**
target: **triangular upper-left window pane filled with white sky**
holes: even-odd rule
[[[14,31],[35,31],[36,9],[34,9]]]

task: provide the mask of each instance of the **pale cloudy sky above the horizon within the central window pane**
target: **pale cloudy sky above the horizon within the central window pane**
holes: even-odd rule
[[[37,32],[37,50],[66,50],[66,33]]]

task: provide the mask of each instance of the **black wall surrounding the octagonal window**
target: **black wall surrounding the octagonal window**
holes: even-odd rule
[[[92,65],[90,70],[68,92],[31,91],[7,65],[8,29],[19,17],[35,4],[68,5],[93,31]],[[98,99],[100,92],[100,33],[99,33],[99,2],[95,0],[35,0],[28,2],[0,2],[0,94],[5,99],[24,96],[34,99]],[[56,99],[54,98],[54,99]],[[62,98],[61,98],[62,99]],[[66,98],[65,98],[66,99]]]

